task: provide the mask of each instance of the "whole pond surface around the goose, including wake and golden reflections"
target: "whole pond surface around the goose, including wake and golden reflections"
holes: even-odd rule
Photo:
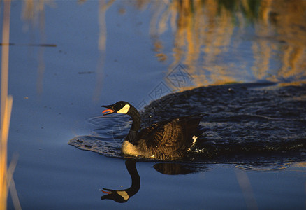
[[[22,209],[304,209],[305,10],[305,1],[12,1],[8,159],[19,157]],[[101,200],[102,188],[131,186],[118,153],[131,121],[101,118],[101,104],[119,100],[143,111],[144,126],[209,114],[191,160],[136,163],[140,189],[124,204]],[[68,145],[78,137],[95,153]]]

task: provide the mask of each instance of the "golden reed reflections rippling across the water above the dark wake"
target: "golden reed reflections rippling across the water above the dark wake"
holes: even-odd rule
[[[43,28],[44,5],[50,2],[54,1],[24,1],[22,17],[38,22]],[[85,0],[78,2],[86,3]],[[102,54],[107,42],[105,13],[114,2],[99,1],[98,45]],[[119,15],[126,15],[125,7],[129,5],[140,11],[152,10],[148,33],[154,42],[156,60],[163,62],[169,73],[178,64],[186,66],[194,78],[192,86],[256,80],[284,85],[306,82],[306,1],[117,2],[121,4]],[[172,49],[164,48],[168,40],[161,36],[168,30],[173,34]],[[98,64],[101,71],[103,57]],[[42,74],[43,69],[42,64],[38,74]],[[99,75],[102,80],[103,73]],[[99,83],[97,86],[101,87]],[[184,88],[189,87],[180,87],[180,90]]]

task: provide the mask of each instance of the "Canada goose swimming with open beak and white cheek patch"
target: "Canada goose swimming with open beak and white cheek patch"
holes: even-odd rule
[[[110,113],[124,113],[131,116],[133,124],[129,134],[122,144],[125,155],[156,158],[159,160],[182,158],[191,146],[196,143],[194,132],[202,118],[187,116],[154,123],[150,127],[140,130],[140,114],[128,102],[102,106],[106,109],[104,115]]]

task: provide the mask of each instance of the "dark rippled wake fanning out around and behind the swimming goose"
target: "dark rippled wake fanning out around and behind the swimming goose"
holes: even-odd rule
[[[186,160],[267,164],[306,158],[306,86],[253,83],[198,87],[168,94],[141,111],[143,127],[151,123],[207,113],[202,132]],[[121,157],[129,117],[89,119],[97,129],[69,144],[110,157]]]

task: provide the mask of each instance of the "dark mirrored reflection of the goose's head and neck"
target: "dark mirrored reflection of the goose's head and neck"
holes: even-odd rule
[[[135,160],[126,160],[125,162],[126,169],[131,175],[132,184],[130,188],[124,190],[111,190],[107,188],[103,188],[102,192],[107,195],[101,196],[101,200],[115,200],[115,202],[124,203],[129,200],[130,197],[135,195],[140,188],[140,177],[136,169],[136,161]]]

